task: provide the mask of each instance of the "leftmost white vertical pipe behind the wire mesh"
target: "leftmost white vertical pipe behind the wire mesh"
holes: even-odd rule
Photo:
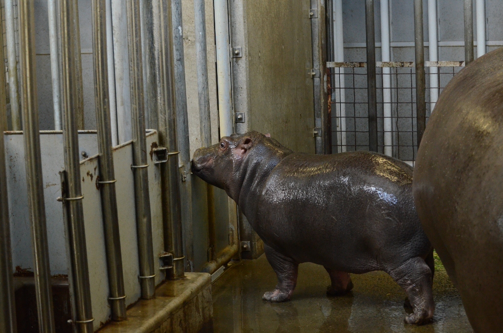
[[[343,0],[333,0],[333,38],[335,50],[335,61],[344,62],[344,34],[343,34]],[[336,116],[339,119],[339,130],[337,142],[341,145],[339,152],[345,152],[346,147],[346,83],[344,78],[344,68],[335,68],[335,82],[333,87],[336,88]]]

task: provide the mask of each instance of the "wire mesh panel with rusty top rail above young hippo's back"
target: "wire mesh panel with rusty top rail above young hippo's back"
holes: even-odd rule
[[[426,62],[427,122],[436,96],[463,66],[459,61]],[[369,150],[366,63],[329,62],[327,67],[332,151]],[[413,164],[417,155],[415,64],[378,62],[376,74],[378,151]]]

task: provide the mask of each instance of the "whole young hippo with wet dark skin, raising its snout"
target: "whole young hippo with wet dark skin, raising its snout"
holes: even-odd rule
[[[264,240],[278,276],[264,299],[290,299],[298,265],[323,265],[329,295],[353,288],[349,273],[382,270],[405,290],[408,323],[434,312],[433,248],[412,201],[412,168],[377,153],[294,153],[258,132],[223,137],[194,154],[193,173],[224,189]]]

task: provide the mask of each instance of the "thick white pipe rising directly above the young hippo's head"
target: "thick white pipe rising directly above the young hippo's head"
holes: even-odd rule
[[[230,78],[229,9],[227,0],[214,0],[217,53],[218,117],[220,137],[233,133],[232,85]]]

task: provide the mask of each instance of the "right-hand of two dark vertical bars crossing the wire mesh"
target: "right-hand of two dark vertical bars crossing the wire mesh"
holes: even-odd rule
[[[415,110],[417,127],[417,147],[426,127],[426,80],[425,80],[425,40],[423,36],[423,0],[414,0],[414,40],[415,40]],[[473,48],[472,48],[473,50]]]

